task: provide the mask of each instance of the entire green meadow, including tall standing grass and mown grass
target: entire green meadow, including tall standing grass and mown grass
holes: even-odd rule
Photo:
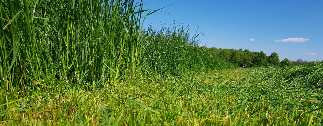
[[[322,63],[239,69],[143,5],[2,1],[0,124],[322,125]]]

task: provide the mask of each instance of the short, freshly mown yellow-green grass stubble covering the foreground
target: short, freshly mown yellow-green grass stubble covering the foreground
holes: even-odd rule
[[[102,89],[34,91],[8,104],[2,124],[322,125],[323,91],[268,71],[188,72]]]

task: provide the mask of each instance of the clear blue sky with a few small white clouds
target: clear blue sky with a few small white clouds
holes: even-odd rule
[[[149,15],[152,24],[191,24],[192,33],[206,47],[249,49],[278,53],[279,59],[308,61],[323,59],[322,0],[146,0],[144,9],[170,13]],[[172,5],[171,5],[172,4]],[[198,29],[197,29],[198,28]],[[251,41],[250,39],[254,39]]]

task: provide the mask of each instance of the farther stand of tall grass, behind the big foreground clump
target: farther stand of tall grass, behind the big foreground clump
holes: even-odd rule
[[[151,26],[142,33],[141,49],[149,73],[160,76],[178,76],[185,70],[212,70],[233,68],[233,65],[199,47],[198,34],[187,27]]]

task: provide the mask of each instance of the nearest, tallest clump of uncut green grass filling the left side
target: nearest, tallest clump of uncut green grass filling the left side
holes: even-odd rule
[[[5,89],[110,82],[134,71],[142,6],[133,0],[2,1]]]

